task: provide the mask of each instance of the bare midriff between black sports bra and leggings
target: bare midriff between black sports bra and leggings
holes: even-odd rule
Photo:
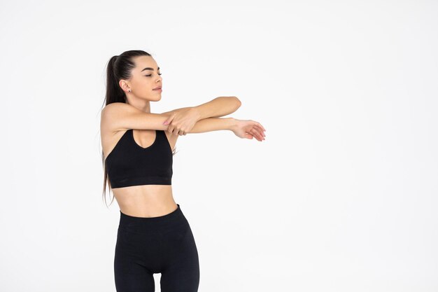
[[[164,216],[178,207],[171,185],[128,186],[112,190],[120,211],[129,216]]]

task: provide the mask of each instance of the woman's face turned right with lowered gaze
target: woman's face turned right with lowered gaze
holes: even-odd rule
[[[136,57],[134,62],[136,67],[132,69],[132,77],[127,80],[125,85],[122,85],[123,81],[120,81],[126,95],[150,101],[160,100],[161,90],[155,90],[155,88],[162,87],[162,78],[157,62],[150,56]]]

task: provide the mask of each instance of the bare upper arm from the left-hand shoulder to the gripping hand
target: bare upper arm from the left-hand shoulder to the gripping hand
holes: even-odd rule
[[[117,132],[127,129],[167,130],[164,121],[169,113],[145,113],[130,104],[113,102],[101,111],[101,130]]]

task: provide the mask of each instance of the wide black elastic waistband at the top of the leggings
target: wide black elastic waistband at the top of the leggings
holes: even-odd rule
[[[129,216],[127,214],[122,213],[120,211],[120,227],[127,228],[129,226],[156,226],[163,225],[165,223],[172,223],[174,221],[178,221],[181,218],[185,218],[183,211],[181,211],[181,207],[179,204],[176,204],[178,207],[176,210],[171,211],[171,213],[157,216],[157,217],[136,217]]]

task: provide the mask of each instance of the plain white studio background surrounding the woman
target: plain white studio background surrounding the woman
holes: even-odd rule
[[[438,291],[437,1],[1,6],[0,291],[115,291],[100,111],[137,49],[153,113],[236,96],[267,130],[178,139],[199,291]]]

